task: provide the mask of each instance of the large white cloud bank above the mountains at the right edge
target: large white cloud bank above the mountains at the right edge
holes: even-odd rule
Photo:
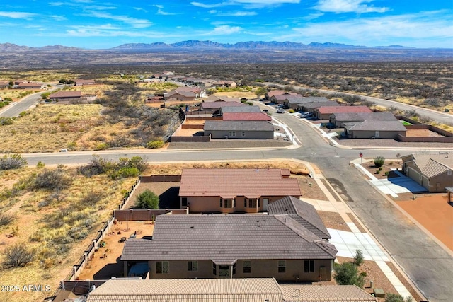
[[[294,34],[281,39],[347,41],[355,45],[382,45],[398,41],[453,39],[452,18],[448,12],[432,11],[399,16],[354,18],[348,21],[307,23],[293,28]],[[451,44],[451,43],[450,43]],[[437,47],[437,45],[431,45]]]

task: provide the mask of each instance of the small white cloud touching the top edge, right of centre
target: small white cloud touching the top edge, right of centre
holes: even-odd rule
[[[386,7],[369,6],[374,0],[319,0],[314,8],[329,13],[385,13]]]

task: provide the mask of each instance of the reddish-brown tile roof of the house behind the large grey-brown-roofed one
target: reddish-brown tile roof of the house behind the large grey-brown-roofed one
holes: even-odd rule
[[[282,177],[282,171],[285,170],[287,169],[183,169],[179,195],[222,198],[301,196],[297,179]]]

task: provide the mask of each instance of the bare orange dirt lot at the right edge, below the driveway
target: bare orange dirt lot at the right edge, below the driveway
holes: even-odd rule
[[[453,206],[447,203],[447,194],[426,195],[396,204],[453,250]]]

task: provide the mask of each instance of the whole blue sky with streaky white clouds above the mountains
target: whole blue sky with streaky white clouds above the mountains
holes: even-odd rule
[[[30,47],[193,39],[453,48],[452,0],[3,2],[0,43]]]

